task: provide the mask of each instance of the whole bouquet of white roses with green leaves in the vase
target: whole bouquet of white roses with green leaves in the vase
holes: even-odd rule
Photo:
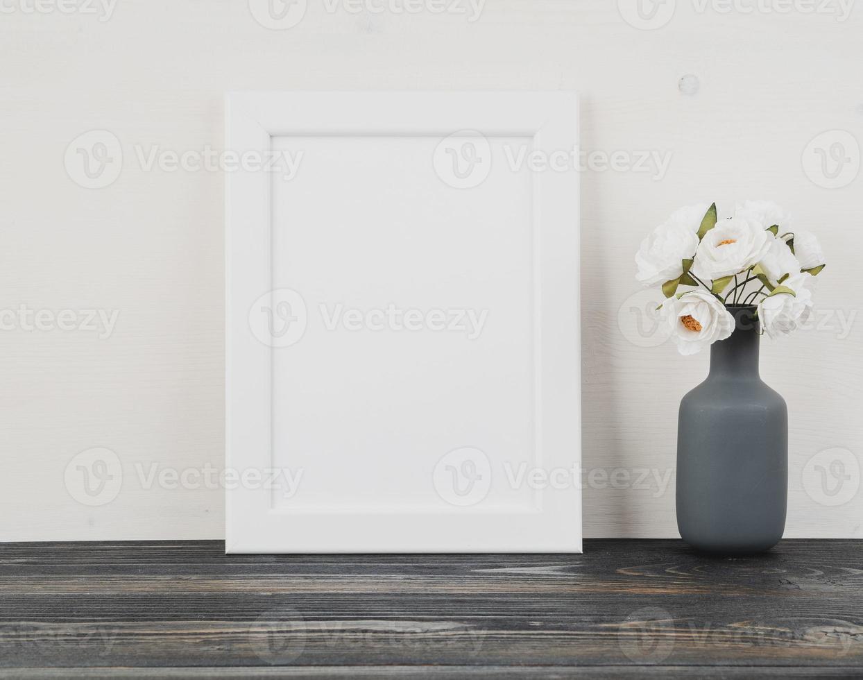
[[[662,286],[658,309],[689,355],[731,335],[729,306],[757,306],[770,337],[804,324],[824,254],[809,231],[791,231],[778,205],[746,201],[724,219],[716,204],[681,208],[641,242],[635,263],[640,283]]]

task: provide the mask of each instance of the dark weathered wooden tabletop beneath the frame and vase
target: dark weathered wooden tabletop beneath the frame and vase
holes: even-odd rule
[[[216,671],[216,669],[219,669]],[[863,677],[863,541],[706,557],[0,544],[3,677]]]

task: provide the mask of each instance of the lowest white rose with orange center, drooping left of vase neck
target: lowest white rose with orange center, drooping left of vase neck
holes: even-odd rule
[[[665,300],[662,312],[683,355],[696,354],[734,331],[734,317],[725,305],[702,289]]]

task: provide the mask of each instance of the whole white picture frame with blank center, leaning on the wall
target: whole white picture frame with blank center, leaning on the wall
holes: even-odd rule
[[[576,94],[225,117],[225,551],[582,551]]]

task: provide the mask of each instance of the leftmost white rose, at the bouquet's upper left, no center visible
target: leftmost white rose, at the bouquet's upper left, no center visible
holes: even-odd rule
[[[641,242],[635,255],[635,278],[643,286],[656,286],[683,274],[683,260],[690,260],[698,247],[698,227],[709,205],[688,205]]]

